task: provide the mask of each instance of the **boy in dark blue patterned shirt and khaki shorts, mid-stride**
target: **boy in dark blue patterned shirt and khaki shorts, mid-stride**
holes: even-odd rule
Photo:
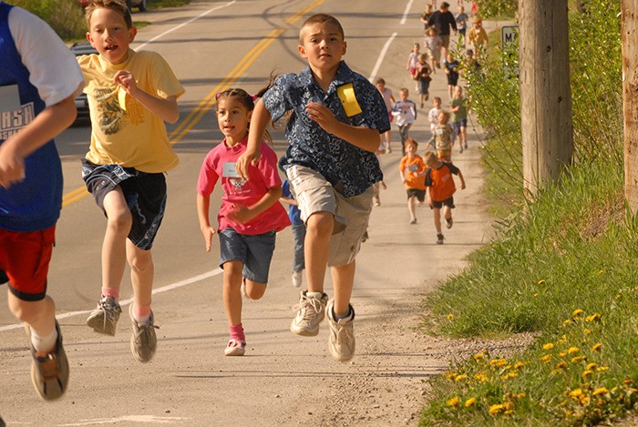
[[[305,267],[308,290],[301,292],[293,333],[314,336],[327,312],[334,359],[355,355],[350,305],[355,256],[372,209],[372,185],[383,179],[375,151],[379,135],[390,129],[383,97],[364,76],[341,60],[344,30],[331,15],[313,15],[302,25],[299,54],[309,66],[277,77],[252,113],[248,148],[237,171],[259,159],[259,141],[271,121],[292,110],[281,165],[306,224]],[[334,299],[324,293],[330,266]],[[327,305],[327,310],[325,307]]]

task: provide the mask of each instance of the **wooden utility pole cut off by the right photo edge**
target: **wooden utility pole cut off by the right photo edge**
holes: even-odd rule
[[[621,3],[623,34],[624,197],[638,209],[638,0]]]

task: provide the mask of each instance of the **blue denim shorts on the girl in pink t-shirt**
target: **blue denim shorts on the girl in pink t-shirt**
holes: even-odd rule
[[[256,283],[267,284],[273,259],[276,232],[240,234],[235,229],[222,229],[220,236],[220,268],[228,261],[241,261],[242,276]]]

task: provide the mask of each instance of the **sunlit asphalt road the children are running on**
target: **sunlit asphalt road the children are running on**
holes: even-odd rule
[[[207,253],[204,249],[195,184],[202,159],[221,140],[213,115],[214,94],[230,86],[256,91],[272,72],[299,71],[305,65],[297,54],[304,16],[319,12],[337,16],[345,27],[349,66],[364,76],[385,77],[396,98],[398,88],[407,86],[417,100],[405,66],[412,44],[422,40],[421,7],[421,2],[412,0],[194,1],[180,9],[134,16],[152,25],[139,31],[133,47],[160,52],[187,89],[180,98],[180,122],[169,128],[180,166],[168,174],[168,210],[153,249],[155,290],[159,291],[153,300],[160,325],[158,351],[149,364],[133,360],[127,310],[116,337],[99,336],[85,325],[99,297],[106,221],[85,195],[80,178],[79,160],[87,151],[89,129],[72,127],[57,138],[65,174],[65,208],[58,222],[48,288],[57,303],[71,383],[61,401],[38,400],[30,382],[24,330],[6,308],[5,297],[0,298],[0,414],[7,425],[321,425],[334,420],[332,412],[367,411],[355,408],[357,402],[335,403],[339,390],[350,384],[344,379],[362,377],[406,356],[393,352],[389,341],[405,331],[412,335],[409,331],[417,324],[420,296],[462,267],[463,257],[477,249],[489,232],[479,191],[479,142],[472,127],[468,129],[470,149],[454,158],[468,189],[458,194],[455,226],[446,232],[443,247],[435,245],[429,209],[419,208],[418,224],[408,225],[405,190],[397,171],[396,131],[394,153],[381,158],[388,189],[382,192],[382,205],[373,211],[371,238],[357,259],[353,304],[358,351],[353,363],[340,364],[330,358],[325,325],[311,339],[288,330],[291,308],[298,300],[290,280],[293,238],[289,229],[277,238],[265,297],[244,303],[247,355],[223,357],[228,329],[217,268],[219,250]],[[442,74],[435,76],[432,92],[445,100]],[[419,111],[413,127],[412,136],[419,142],[427,140],[429,107]],[[282,133],[274,132],[274,137],[276,151],[283,154]],[[211,207],[219,206],[219,200],[216,192]],[[128,272],[121,289],[122,299],[128,299]],[[329,275],[326,290],[331,292]],[[388,318],[392,315],[388,309],[399,302],[409,305],[406,310],[411,317]],[[379,329],[379,322],[399,324],[403,330]],[[380,350],[379,346],[388,345],[390,350]],[[379,374],[379,378],[387,381],[387,387],[415,388],[418,393],[425,376],[448,364],[445,354],[428,359],[423,353],[421,358],[419,351],[423,349],[414,349],[410,361],[401,360],[401,375]],[[419,404],[413,399],[405,409],[407,423],[415,422]],[[396,413],[403,410],[402,405],[394,404]],[[385,420],[379,417],[373,419]],[[339,425],[395,424],[349,420]],[[403,418],[391,420],[405,423]]]

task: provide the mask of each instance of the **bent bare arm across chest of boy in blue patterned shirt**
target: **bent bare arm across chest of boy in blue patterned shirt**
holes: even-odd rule
[[[310,102],[305,107],[308,117],[314,120],[326,132],[349,142],[355,147],[365,149],[371,153],[379,147],[379,131],[369,127],[356,127],[340,122],[334,117],[330,108],[316,102]]]

